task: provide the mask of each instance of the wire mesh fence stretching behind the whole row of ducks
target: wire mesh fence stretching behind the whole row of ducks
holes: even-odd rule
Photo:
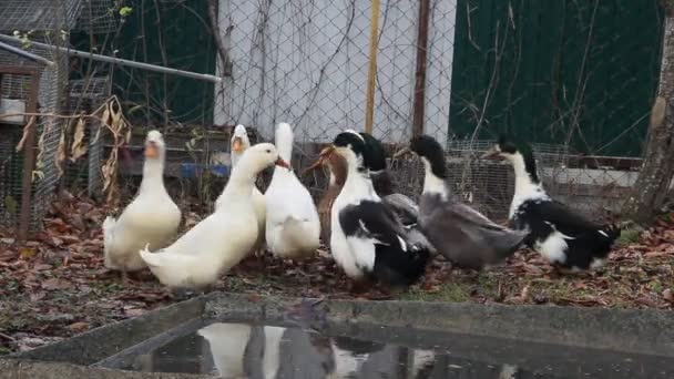
[[[116,94],[136,125],[123,175],[139,174],[135,147],[159,129],[171,140],[167,176],[181,196],[217,196],[204,175],[227,164],[228,133],[239,123],[272,141],[275,125],[289,122],[294,165],[306,166],[339,131],[365,130],[374,79],[372,134],[398,146],[422,114],[423,132],[447,148],[457,194],[491,217],[507,215],[514,178],[509,166],[477,156],[501,133],[533,144],[553,196],[591,216],[616,209],[634,183],[657,88],[660,2],[428,0],[425,16],[423,1],[380,1],[372,76],[369,1],[8,0],[0,30],[52,30],[51,42],[65,30],[80,50],[221,75],[214,85],[71,59],[41,90],[41,106],[65,113]],[[21,84],[3,82],[2,95],[12,91]],[[96,126],[88,127],[89,139]],[[58,142],[44,141],[47,160]],[[91,146],[72,183],[95,193],[108,151]],[[418,196],[420,166],[391,162],[391,170],[399,191]],[[303,180],[317,196],[326,185]]]

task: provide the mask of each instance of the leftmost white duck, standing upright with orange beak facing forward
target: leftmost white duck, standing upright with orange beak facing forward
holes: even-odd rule
[[[143,181],[136,197],[115,219],[103,222],[105,267],[122,272],[136,272],[145,267],[139,250],[147,245],[152,249],[168,245],[177,233],[181,211],[164,187],[166,145],[159,131],[145,139]]]

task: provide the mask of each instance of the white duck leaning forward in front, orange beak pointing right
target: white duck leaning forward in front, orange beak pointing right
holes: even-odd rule
[[[274,164],[289,167],[270,143],[244,153],[221,195],[221,207],[173,245],[141,257],[162,284],[172,288],[206,289],[243,259],[257,240],[257,217],[251,192],[257,174]]]

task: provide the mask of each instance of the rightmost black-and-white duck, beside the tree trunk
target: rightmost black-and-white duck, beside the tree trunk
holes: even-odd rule
[[[530,247],[564,268],[594,269],[606,263],[620,228],[591,222],[552,199],[543,190],[530,146],[501,137],[482,157],[512,164],[515,182],[509,219],[515,229],[531,232]]]

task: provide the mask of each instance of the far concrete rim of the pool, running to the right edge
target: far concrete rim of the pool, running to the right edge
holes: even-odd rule
[[[298,298],[215,294],[205,317],[283,319]],[[674,313],[468,303],[325,300],[327,319],[674,357]]]

